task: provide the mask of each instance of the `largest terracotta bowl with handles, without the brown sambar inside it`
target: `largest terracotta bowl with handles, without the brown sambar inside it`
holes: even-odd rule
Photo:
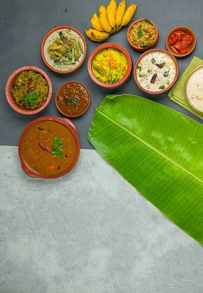
[[[73,134],[75,141],[76,141],[77,150],[76,150],[76,156],[75,156],[75,159],[73,160],[73,163],[70,165],[70,167],[68,167],[65,171],[63,171],[62,173],[60,173],[58,175],[46,176],[46,175],[42,175],[42,174],[36,172],[25,162],[25,160],[22,156],[21,147],[22,147],[22,142],[24,139],[25,132],[31,126],[35,125],[36,123],[42,122],[42,121],[54,121],[54,122],[58,122],[58,123],[62,124],[63,126],[67,127],[71,131],[71,133]],[[30,177],[42,178],[42,179],[56,179],[61,176],[64,176],[65,174],[70,172],[72,170],[72,168],[76,165],[78,158],[79,158],[79,155],[80,155],[80,141],[78,138],[77,128],[67,118],[57,118],[57,117],[51,117],[51,116],[45,116],[45,117],[38,118],[38,119],[34,120],[33,122],[31,122],[30,124],[28,124],[28,126],[25,127],[25,129],[23,130],[23,132],[20,136],[20,140],[19,140],[20,163],[21,163],[21,167],[22,167],[23,171]]]

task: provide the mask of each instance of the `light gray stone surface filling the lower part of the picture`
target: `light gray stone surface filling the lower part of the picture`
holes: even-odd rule
[[[0,146],[0,293],[202,293],[203,247],[96,150],[56,180]]]

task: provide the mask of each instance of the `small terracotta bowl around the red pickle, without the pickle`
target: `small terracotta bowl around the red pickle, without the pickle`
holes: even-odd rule
[[[180,31],[182,30],[184,33],[186,34],[189,34],[191,36],[193,36],[193,41],[192,43],[189,45],[189,50],[185,53],[185,54],[181,54],[181,53],[178,53],[177,51],[175,51],[175,49],[169,44],[169,41],[170,41],[170,38],[172,36],[172,34],[174,32],[177,32],[177,31]],[[166,39],[165,39],[165,45],[166,45],[166,48],[167,50],[173,54],[174,56],[176,57],[185,57],[187,55],[189,55],[195,48],[196,46],[196,36],[195,36],[195,33],[193,32],[193,30],[191,30],[189,27],[187,26],[177,26],[175,28],[173,28],[167,35]]]

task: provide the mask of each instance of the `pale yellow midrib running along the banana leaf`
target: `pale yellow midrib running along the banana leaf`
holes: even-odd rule
[[[169,159],[171,162],[173,162],[174,164],[176,164],[177,166],[181,167],[183,170],[185,170],[186,172],[190,173],[192,176],[194,176],[195,178],[197,178],[198,180],[200,180],[201,182],[203,182],[202,178],[197,176],[196,174],[194,174],[193,172],[191,172],[189,169],[185,168],[184,166],[182,166],[181,164],[179,164],[178,162],[176,162],[175,160],[173,160],[171,157],[167,156],[166,154],[164,154],[161,150],[159,150],[158,148],[156,148],[155,146],[152,146],[150,143],[146,142],[145,140],[143,140],[140,136],[137,136],[135,133],[133,133],[132,131],[128,130],[127,128],[125,128],[124,126],[122,126],[120,123],[116,122],[115,120],[111,119],[109,116],[105,115],[101,110],[96,109],[96,112],[99,112],[100,114],[102,114],[104,117],[106,117],[108,120],[110,120],[111,122],[113,122],[114,124],[118,125],[119,127],[121,127],[122,129],[124,129],[125,131],[127,131],[129,134],[131,134],[132,136],[136,137],[137,139],[139,139],[142,143],[144,143],[145,145],[151,147],[152,149],[154,149],[155,151],[157,151],[158,153],[160,153],[163,157]]]

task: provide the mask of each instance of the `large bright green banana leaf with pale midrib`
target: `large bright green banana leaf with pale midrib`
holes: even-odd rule
[[[147,200],[203,245],[203,125],[150,100],[110,95],[88,139]]]

